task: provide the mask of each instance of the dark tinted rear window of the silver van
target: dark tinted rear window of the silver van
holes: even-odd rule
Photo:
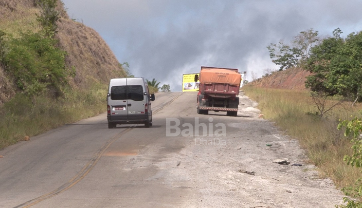
[[[144,100],[141,85],[113,86],[110,88],[110,99],[112,100]]]

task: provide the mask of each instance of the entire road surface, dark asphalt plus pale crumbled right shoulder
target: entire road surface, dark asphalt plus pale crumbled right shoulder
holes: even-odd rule
[[[21,141],[0,151],[0,208],[307,208],[339,203],[340,192],[325,179],[316,180],[315,171],[309,171],[313,167],[272,163],[285,156],[303,163],[305,156],[297,142],[279,135],[253,107],[240,97],[237,117],[198,115],[196,93],[158,93],[151,128],[108,129],[103,113]],[[205,125],[199,133],[205,130],[206,135],[197,135],[197,125]],[[309,202],[313,197],[317,204]]]

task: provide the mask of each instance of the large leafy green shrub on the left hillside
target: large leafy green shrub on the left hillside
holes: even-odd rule
[[[65,55],[56,40],[38,33],[22,33],[20,38],[1,40],[0,61],[14,77],[19,90],[29,95],[49,89],[58,95],[66,83]]]

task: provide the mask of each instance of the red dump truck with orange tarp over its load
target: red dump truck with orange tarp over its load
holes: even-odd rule
[[[238,69],[201,66],[195,82],[199,81],[197,111],[208,114],[209,111],[226,112],[228,116],[237,116],[241,75]]]

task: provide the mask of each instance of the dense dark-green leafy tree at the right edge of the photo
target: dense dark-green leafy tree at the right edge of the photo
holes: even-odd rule
[[[325,38],[311,49],[307,60],[306,87],[328,96],[342,95],[361,101],[362,92],[362,33],[351,33],[341,38],[337,28],[333,37]]]

